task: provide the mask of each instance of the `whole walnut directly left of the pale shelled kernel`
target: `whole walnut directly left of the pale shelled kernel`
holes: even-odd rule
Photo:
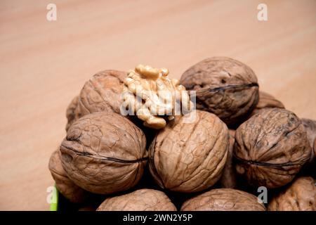
[[[88,80],[79,95],[79,117],[96,112],[120,114],[126,75],[127,72],[104,70]]]

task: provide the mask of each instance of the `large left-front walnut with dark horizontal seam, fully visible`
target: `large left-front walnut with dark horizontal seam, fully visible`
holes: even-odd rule
[[[74,122],[60,146],[62,166],[75,184],[92,193],[125,191],[147,162],[143,131],[117,113],[91,113]]]

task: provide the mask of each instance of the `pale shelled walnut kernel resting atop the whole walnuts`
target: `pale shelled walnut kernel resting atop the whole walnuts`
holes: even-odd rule
[[[124,80],[122,110],[136,114],[145,127],[162,129],[166,126],[166,117],[162,116],[173,120],[175,115],[180,115],[180,106],[184,112],[193,108],[185,87],[168,75],[166,68],[149,65],[138,65],[131,70]]]

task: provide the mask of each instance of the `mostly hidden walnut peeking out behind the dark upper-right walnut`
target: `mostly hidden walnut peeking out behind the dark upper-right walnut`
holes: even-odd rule
[[[274,96],[266,93],[265,91],[259,91],[259,101],[251,116],[258,113],[263,108],[285,108],[283,103]]]

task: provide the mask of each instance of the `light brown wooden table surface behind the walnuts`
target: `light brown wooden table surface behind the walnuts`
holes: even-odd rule
[[[268,21],[257,20],[261,2]],[[65,136],[67,104],[100,70],[143,63],[178,78],[229,56],[253,68],[261,90],[316,120],[315,0],[2,0],[0,32],[0,210],[48,210],[48,159]]]

